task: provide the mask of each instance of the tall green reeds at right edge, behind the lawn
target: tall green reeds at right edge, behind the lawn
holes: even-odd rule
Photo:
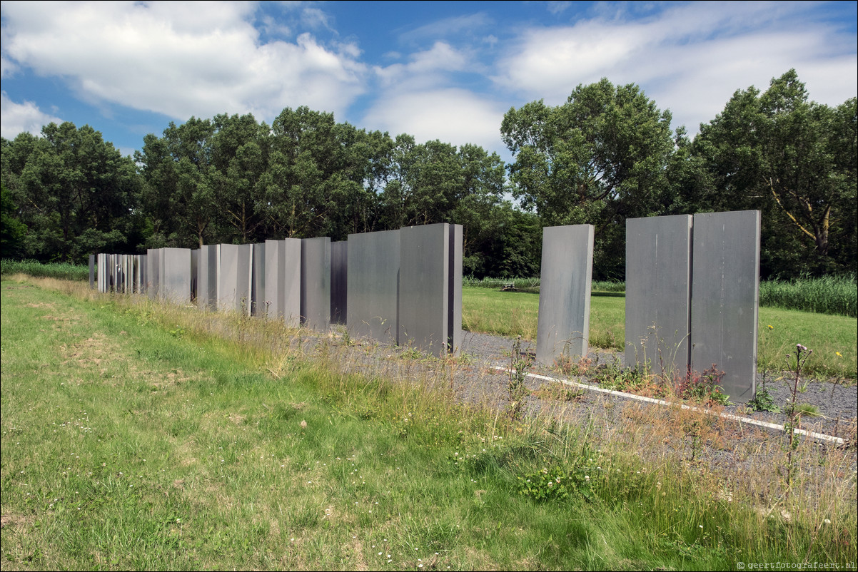
[[[759,305],[818,314],[858,316],[855,275],[799,280],[766,280],[759,284]]]

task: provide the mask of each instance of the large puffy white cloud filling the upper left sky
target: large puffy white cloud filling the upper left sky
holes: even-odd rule
[[[364,91],[356,46],[308,33],[259,42],[255,3],[3,3],[3,56],[60,75],[83,99],[191,115],[341,112]],[[317,12],[305,12],[317,25]],[[5,64],[4,64],[5,65]]]

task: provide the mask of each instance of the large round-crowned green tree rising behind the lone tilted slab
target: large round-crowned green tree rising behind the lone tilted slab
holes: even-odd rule
[[[593,224],[594,272],[623,274],[627,217],[674,202],[666,172],[674,141],[670,112],[633,84],[579,85],[564,105],[512,108],[501,134],[515,155],[513,195],[544,225]],[[666,207],[667,206],[667,207]]]

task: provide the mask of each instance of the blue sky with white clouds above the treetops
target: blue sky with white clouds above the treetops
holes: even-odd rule
[[[91,125],[123,154],[167,124],[286,107],[511,160],[511,107],[635,83],[690,134],[795,68],[858,91],[858,3],[3,2],[2,135]]]

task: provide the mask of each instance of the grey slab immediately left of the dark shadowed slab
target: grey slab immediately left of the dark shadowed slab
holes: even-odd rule
[[[330,327],[330,238],[301,239],[301,323]]]

